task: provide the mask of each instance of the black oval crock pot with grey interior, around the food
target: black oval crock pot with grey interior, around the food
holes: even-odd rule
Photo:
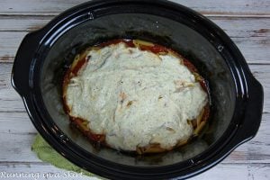
[[[61,102],[62,79],[76,53],[115,38],[149,40],[190,59],[208,82],[211,116],[202,135],[184,148],[136,156],[94,148],[70,128]],[[32,123],[62,156],[111,179],[177,179],[219,163],[259,128],[263,88],[236,45],[201,14],[167,1],[110,0],[80,4],[25,36],[12,83]]]

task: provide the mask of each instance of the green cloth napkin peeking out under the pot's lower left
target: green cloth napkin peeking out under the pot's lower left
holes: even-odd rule
[[[68,171],[74,171],[76,173],[82,173],[83,175],[95,176],[92,173],[85,171],[84,169],[69,162],[65,157],[62,157],[58,152],[51,148],[49,144],[38,134],[31,145],[31,150],[37,154],[37,156],[44,162],[50,163],[58,168],[66,169]]]

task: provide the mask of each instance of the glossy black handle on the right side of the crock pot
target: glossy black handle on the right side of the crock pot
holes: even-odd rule
[[[264,103],[263,86],[252,75],[247,78],[247,81],[247,107],[244,115],[244,121],[239,126],[237,133],[238,140],[236,141],[238,141],[238,144],[254,138],[262,120]]]

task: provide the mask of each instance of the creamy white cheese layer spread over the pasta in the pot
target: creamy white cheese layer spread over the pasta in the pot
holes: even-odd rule
[[[92,49],[88,57],[67,85],[69,114],[89,121],[110,147],[158,143],[169,149],[192,135],[187,120],[199,115],[208,98],[182,59],[122,42]]]

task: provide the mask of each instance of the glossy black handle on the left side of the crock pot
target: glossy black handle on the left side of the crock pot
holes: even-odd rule
[[[14,89],[25,96],[31,90],[31,71],[33,70],[34,55],[39,47],[42,34],[39,31],[28,33],[21,42],[21,45],[14,58],[12,71],[12,85]]]

